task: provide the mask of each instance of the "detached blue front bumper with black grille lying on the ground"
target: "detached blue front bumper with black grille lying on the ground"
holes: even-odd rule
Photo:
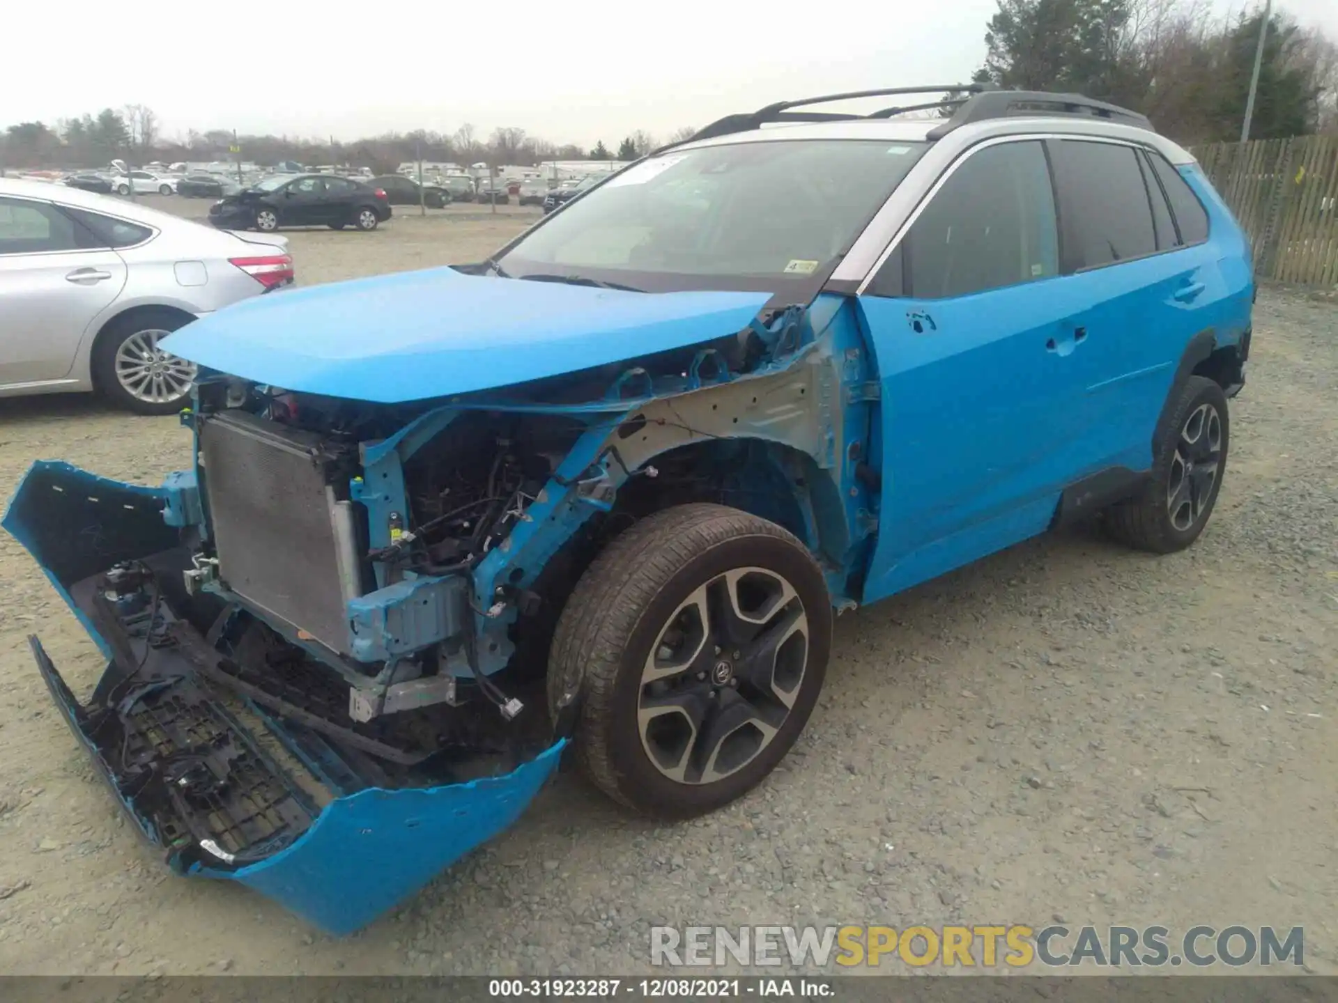
[[[446,719],[446,705],[395,726],[351,719],[347,687],[241,608],[187,590],[194,532],[165,522],[186,497],[179,477],[150,489],[33,464],[4,528],[108,658],[87,703],[33,637],[39,671],[174,871],[240,881],[349,933],[514,822],[562,742],[546,728],[490,736],[484,719]]]

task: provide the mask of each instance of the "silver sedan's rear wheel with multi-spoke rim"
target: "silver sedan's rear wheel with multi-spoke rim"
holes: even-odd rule
[[[92,373],[114,404],[139,415],[171,415],[190,403],[195,365],[158,342],[190,318],[174,310],[139,310],[112,320],[98,336]]]

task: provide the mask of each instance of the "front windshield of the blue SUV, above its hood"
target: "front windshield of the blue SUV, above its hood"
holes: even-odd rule
[[[800,281],[848,250],[925,148],[824,139],[670,151],[573,201],[500,265],[520,278],[581,275],[648,290]]]

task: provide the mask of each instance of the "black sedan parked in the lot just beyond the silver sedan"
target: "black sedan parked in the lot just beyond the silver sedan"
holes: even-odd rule
[[[356,226],[375,230],[391,218],[385,190],[328,174],[276,174],[209,207],[209,222],[221,230],[277,230]]]

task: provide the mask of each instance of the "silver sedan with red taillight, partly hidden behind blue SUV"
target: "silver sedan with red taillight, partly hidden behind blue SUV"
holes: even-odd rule
[[[0,397],[98,391],[140,415],[179,411],[195,370],[158,341],[292,281],[285,237],[0,179]]]

